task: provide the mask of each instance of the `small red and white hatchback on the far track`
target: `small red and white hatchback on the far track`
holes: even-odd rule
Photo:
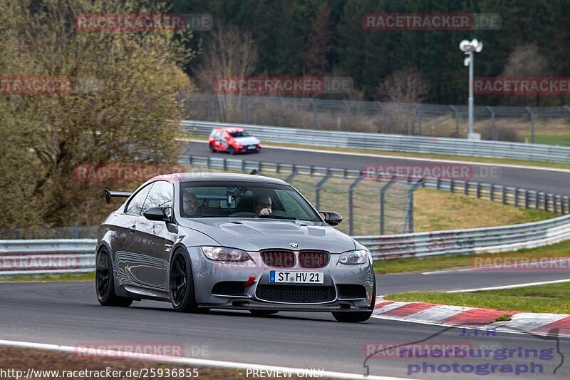
[[[233,155],[259,153],[261,143],[244,128],[216,128],[209,134],[208,147],[212,152],[223,151]]]

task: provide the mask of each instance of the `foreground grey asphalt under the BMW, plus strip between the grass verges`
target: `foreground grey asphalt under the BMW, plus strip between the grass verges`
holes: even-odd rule
[[[492,278],[498,283],[499,277],[507,277],[505,282],[517,283],[520,275],[517,272],[495,272],[489,274],[484,284],[490,286]],[[462,280],[458,276],[462,276]],[[530,279],[528,274],[522,277]],[[378,276],[378,290],[383,294],[380,289],[472,288],[482,281],[475,276],[465,277],[465,274],[455,272],[390,274]],[[494,335],[478,332],[477,336],[470,332],[469,336],[464,336],[462,329],[378,318],[371,318],[366,323],[342,324],[335,322],[328,313],[281,312],[271,317],[253,317],[247,312],[212,310],[209,314],[180,314],[173,312],[170,304],[151,301],[135,302],[129,308],[100,307],[93,282],[3,283],[0,284],[0,305],[0,337],[6,340],[68,346],[137,342],[182,344],[185,356],[199,359],[320,368],[354,374],[364,374],[364,365],[367,364],[370,374],[420,379],[481,379],[482,375],[437,372],[437,366],[454,363],[460,366],[519,364],[520,369],[524,369],[525,365],[530,366],[534,362],[542,365],[542,374],[527,373],[516,377],[568,379],[570,376],[568,361],[556,374],[552,373],[562,359],[556,354],[556,344],[559,344],[561,354],[570,354],[570,339],[564,338],[556,341],[498,332]],[[396,357],[393,349],[389,349],[366,359],[367,354],[378,351],[378,347],[386,349],[423,340],[421,349],[455,344],[468,346],[475,352],[478,349],[495,351],[488,359],[409,359]],[[373,349],[368,351],[369,347]],[[553,350],[554,354],[550,359],[532,359],[524,354],[522,357],[512,354],[514,357],[509,359],[493,357],[497,349],[517,350],[518,353],[519,347],[522,350]],[[435,364],[435,373],[431,372],[430,364]],[[418,369],[419,372],[413,373]],[[484,375],[491,379],[512,376]]]

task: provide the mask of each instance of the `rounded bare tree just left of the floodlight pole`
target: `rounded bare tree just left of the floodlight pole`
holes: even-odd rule
[[[385,125],[381,130],[413,134],[418,120],[413,103],[424,101],[429,89],[429,83],[417,68],[403,68],[386,77],[378,86],[380,99],[390,102],[384,106],[385,118],[380,123],[385,122]]]

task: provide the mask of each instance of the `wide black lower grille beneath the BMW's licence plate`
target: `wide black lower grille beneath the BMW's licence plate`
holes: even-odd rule
[[[259,299],[271,302],[291,304],[313,304],[329,302],[335,298],[333,287],[316,285],[267,285],[259,284],[255,295]]]

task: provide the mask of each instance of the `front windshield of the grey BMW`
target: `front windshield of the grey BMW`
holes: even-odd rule
[[[265,217],[321,222],[289,185],[249,182],[180,184],[182,217]]]

